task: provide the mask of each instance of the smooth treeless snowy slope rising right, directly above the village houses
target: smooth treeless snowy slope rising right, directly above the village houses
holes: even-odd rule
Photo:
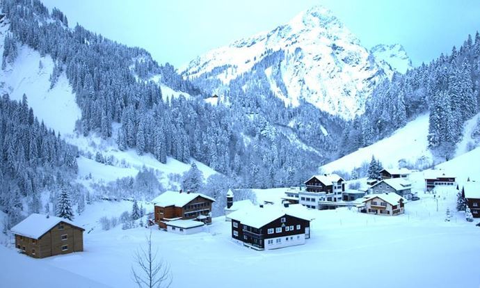
[[[417,159],[423,159],[431,163],[433,158],[426,140],[428,131],[429,115],[421,115],[395,131],[392,136],[327,163],[321,166],[321,169],[325,172],[334,170],[350,172],[353,168],[362,166],[363,163],[369,163],[372,155],[380,159],[384,167],[397,168],[398,161],[401,159],[411,163],[415,163]]]

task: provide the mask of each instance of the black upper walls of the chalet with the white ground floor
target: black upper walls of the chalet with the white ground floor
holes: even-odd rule
[[[285,218],[285,222],[282,222],[282,218]],[[300,225],[299,230],[296,229],[297,225]],[[287,226],[294,226],[294,229],[287,231]],[[282,232],[277,233],[276,228],[279,227],[282,227]],[[273,234],[268,233],[269,229],[273,229]],[[265,248],[265,241],[268,239],[305,234],[307,230],[309,234],[305,236],[310,238],[310,221],[290,215],[281,216],[260,228],[243,225],[232,219],[232,238],[259,249]]]

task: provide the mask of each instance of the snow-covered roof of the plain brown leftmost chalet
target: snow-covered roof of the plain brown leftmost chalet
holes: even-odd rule
[[[13,232],[13,234],[29,237],[32,239],[39,239],[43,236],[43,234],[49,232],[51,228],[55,227],[55,225],[61,222],[70,224],[74,227],[84,230],[79,225],[76,225],[72,221],[65,218],[55,216],[49,216],[49,218],[47,218],[46,215],[34,213],[25,218],[24,221],[13,226],[10,231]]]

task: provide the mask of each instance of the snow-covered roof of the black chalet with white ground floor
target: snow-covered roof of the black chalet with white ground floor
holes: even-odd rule
[[[232,212],[228,215],[228,218],[240,221],[241,224],[254,228],[263,227],[285,215],[312,221],[305,207],[290,206],[291,207],[264,205],[263,208],[258,206],[248,207]]]

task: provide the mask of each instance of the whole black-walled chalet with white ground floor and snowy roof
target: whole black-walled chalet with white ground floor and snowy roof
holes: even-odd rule
[[[235,211],[232,239],[255,250],[271,250],[305,244],[310,238],[310,218],[303,207],[260,205]],[[298,206],[298,205],[290,205]]]

